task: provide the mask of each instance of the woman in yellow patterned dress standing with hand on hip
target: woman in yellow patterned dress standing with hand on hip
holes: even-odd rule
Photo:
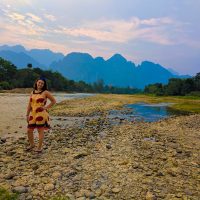
[[[47,99],[50,100],[50,104],[48,105],[46,105]],[[47,90],[45,78],[41,77],[37,79],[34,83],[34,90],[31,92],[26,113],[28,123],[27,134],[30,143],[30,146],[26,149],[27,151],[35,147],[33,131],[36,128],[39,134],[39,143],[35,151],[38,153],[42,152],[44,131],[50,128],[48,109],[55,103],[55,98]]]

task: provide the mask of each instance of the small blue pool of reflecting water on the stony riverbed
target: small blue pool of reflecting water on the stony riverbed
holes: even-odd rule
[[[155,122],[172,115],[183,114],[169,108],[172,103],[146,104],[137,103],[125,105],[125,110],[112,110],[109,112],[110,119]]]

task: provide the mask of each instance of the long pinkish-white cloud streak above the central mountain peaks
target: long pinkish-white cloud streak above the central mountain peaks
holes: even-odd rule
[[[133,17],[128,21],[106,19],[88,21],[79,25],[79,27],[72,28],[60,26],[54,32],[103,42],[125,43],[133,40],[142,40],[171,45],[177,42],[171,37],[171,34],[177,35],[176,27],[179,25],[179,22],[166,17],[145,20]]]

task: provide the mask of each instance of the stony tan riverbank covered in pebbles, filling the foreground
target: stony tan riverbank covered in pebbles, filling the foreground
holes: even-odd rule
[[[45,136],[42,154],[24,151],[25,135],[4,138],[0,187],[18,191],[20,199],[197,200],[200,114],[109,122],[109,109],[135,100],[105,95],[58,104],[51,114],[60,124]]]

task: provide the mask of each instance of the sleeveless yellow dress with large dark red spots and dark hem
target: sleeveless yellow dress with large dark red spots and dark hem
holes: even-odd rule
[[[32,92],[30,97],[31,112],[29,115],[28,129],[45,129],[50,128],[49,125],[49,114],[43,109],[47,100],[42,95],[44,91],[36,93]]]

